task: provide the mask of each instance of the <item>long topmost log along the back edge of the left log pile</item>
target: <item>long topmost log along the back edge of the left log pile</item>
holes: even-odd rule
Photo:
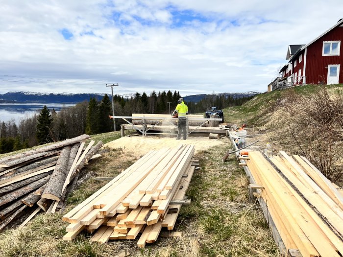
[[[40,148],[37,148],[37,149],[29,150],[29,151],[26,151],[24,153],[19,153],[19,154],[15,154],[15,155],[11,155],[11,156],[6,156],[6,157],[3,157],[3,158],[0,158],[0,164],[3,164],[5,162],[10,162],[10,161],[13,161],[13,160],[16,160],[16,159],[20,159],[20,158],[23,158],[25,156],[33,155],[33,154],[36,154],[36,153],[47,152],[47,151],[50,151],[50,150],[59,149],[59,148],[62,148],[64,146],[67,146],[67,145],[71,145],[71,144],[74,144],[74,143],[77,143],[77,142],[80,142],[80,141],[83,141],[83,140],[87,140],[89,138],[90,138],[90,136],[84,134],[84,135],[78,136],[78,137],[73,138],[73,139],[68,139],[68,140],[60,141],[60,142],[53,143],[53,144],[50,144],[50,145],[47,145],[47,146],[43,146],[43,147],[40,147]]]

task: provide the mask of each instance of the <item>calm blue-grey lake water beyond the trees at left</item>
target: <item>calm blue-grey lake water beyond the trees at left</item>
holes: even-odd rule
[[[27,117],[32,117],[36,112],[40,112],[44,105],[51,111],[55,109],[60,111],[62,107],[70,107],[75,104],[58,104],[58,103],[0,103],[0,121],[8,121],[14,119],[16,123]]]

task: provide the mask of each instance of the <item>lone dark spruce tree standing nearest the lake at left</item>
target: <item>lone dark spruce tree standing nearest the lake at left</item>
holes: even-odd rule
[[[37,131],[36,137],[39,144],[51,142],[50,128],[51,128],[51,114],[46,105],[44,105],[41,113],[37,118]]]

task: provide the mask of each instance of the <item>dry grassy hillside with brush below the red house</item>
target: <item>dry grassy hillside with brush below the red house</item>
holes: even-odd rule
[[[326,177],[342,185],[342,84],[259,94],[243,106],[225,109],[224,119],[245,122],[254,133],[266,133],[274,150],[306,156]]]

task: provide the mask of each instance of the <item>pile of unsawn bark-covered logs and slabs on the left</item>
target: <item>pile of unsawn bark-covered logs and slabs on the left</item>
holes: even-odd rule
[[[0,159],[0,230],[24,209],[35,209],[26,224],[41,209],[54,213],[58,204],[63,207],[72,190],[67,186],[103,145],[92,147],[91,141],[83,149],[89,138],[81,135]]]

